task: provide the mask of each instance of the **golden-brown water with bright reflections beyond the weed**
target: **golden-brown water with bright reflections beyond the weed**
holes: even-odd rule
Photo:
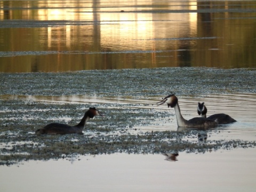
[[[0,71],[256,67],[255,1],[1,1]]]

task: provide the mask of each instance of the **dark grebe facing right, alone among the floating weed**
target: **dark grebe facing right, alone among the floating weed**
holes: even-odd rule
[[[77,125],[69,126],[62,123],[51,123],[41,129],[36,130],[36,134],[83,134],[82,131],[84,129],[85,123],[94,116],[103,115],[95,107],[90,107],[89,110],[85,112],[84,117],[81,119],[80,123]]]

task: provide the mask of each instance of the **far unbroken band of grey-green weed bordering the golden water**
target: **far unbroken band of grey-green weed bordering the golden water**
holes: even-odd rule
[[[234,91],[255,93],[255,75],[256,70],[253,69],[215,68],[89,70],[59,74],[0,73],[0,79],[5,82],[0,84],[0,94],[149,97],[167,95],[170,90],[179,95],[228,94]]]

